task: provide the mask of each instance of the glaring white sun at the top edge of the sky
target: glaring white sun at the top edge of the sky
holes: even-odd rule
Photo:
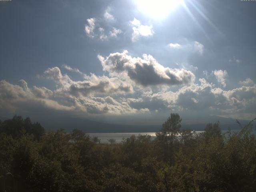
[[[183,0],[135,0],[138,9],[151,18],[164,18],[176,9]]]

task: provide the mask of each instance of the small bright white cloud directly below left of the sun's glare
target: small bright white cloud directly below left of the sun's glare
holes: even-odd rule
[[[132,26],[132,41],[137,41],[140,36],[153,36],[154,31],[152,29],[152,25],[142,25],[140,24],[140,21],[134,18],[134,20],[130,21],[130,25]]]

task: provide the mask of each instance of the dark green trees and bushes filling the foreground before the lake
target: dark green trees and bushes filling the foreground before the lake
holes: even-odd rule
[[[208,124],[197,135],[181,132],[180,122],[171,114],[155,140],[131,136],[119,144],[100,144],[80,130],[45,133],[40,124],[14,116],[0,122],[1,191],[256,191],[250,124],[225,135],[218,123]],[[6,179],[8,172],[14,184]]]

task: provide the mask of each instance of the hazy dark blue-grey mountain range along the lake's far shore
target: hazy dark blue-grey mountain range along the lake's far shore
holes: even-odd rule
[[[0,117],[1,120],[8,119],[7,117]],[[67,132],[70,132],[74,128],[78,128],[88,133],[99,133],[99,132],[158,132],[162,128],[160,125],[121,125],[121,124],[109,124],[103,122],[96,122],[86,119],[78,118],[56,118],[53,120],[47,119],[31,119],[32,122],[39,122],[46,130],[57,130],[63,128]],[[233,118],[224,118],[219,116],[210,116],[207,119],[197,121],[198,123],[193,123],[192,121],[183,121],[182,120],[182,129],[191,129],[191,130],[204,130],[207,123],[214,123],[220,121],[220,128],[222,130],[227,130],[228,127],[231,129],[239,129],[239,125],[236,123],[236,120]],[[246,125],[248,120],[239,120],[242,125]]]

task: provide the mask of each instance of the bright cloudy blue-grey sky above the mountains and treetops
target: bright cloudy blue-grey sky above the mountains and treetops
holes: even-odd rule
[[[0,116],[256,117],[256,1],[0,2]]]

